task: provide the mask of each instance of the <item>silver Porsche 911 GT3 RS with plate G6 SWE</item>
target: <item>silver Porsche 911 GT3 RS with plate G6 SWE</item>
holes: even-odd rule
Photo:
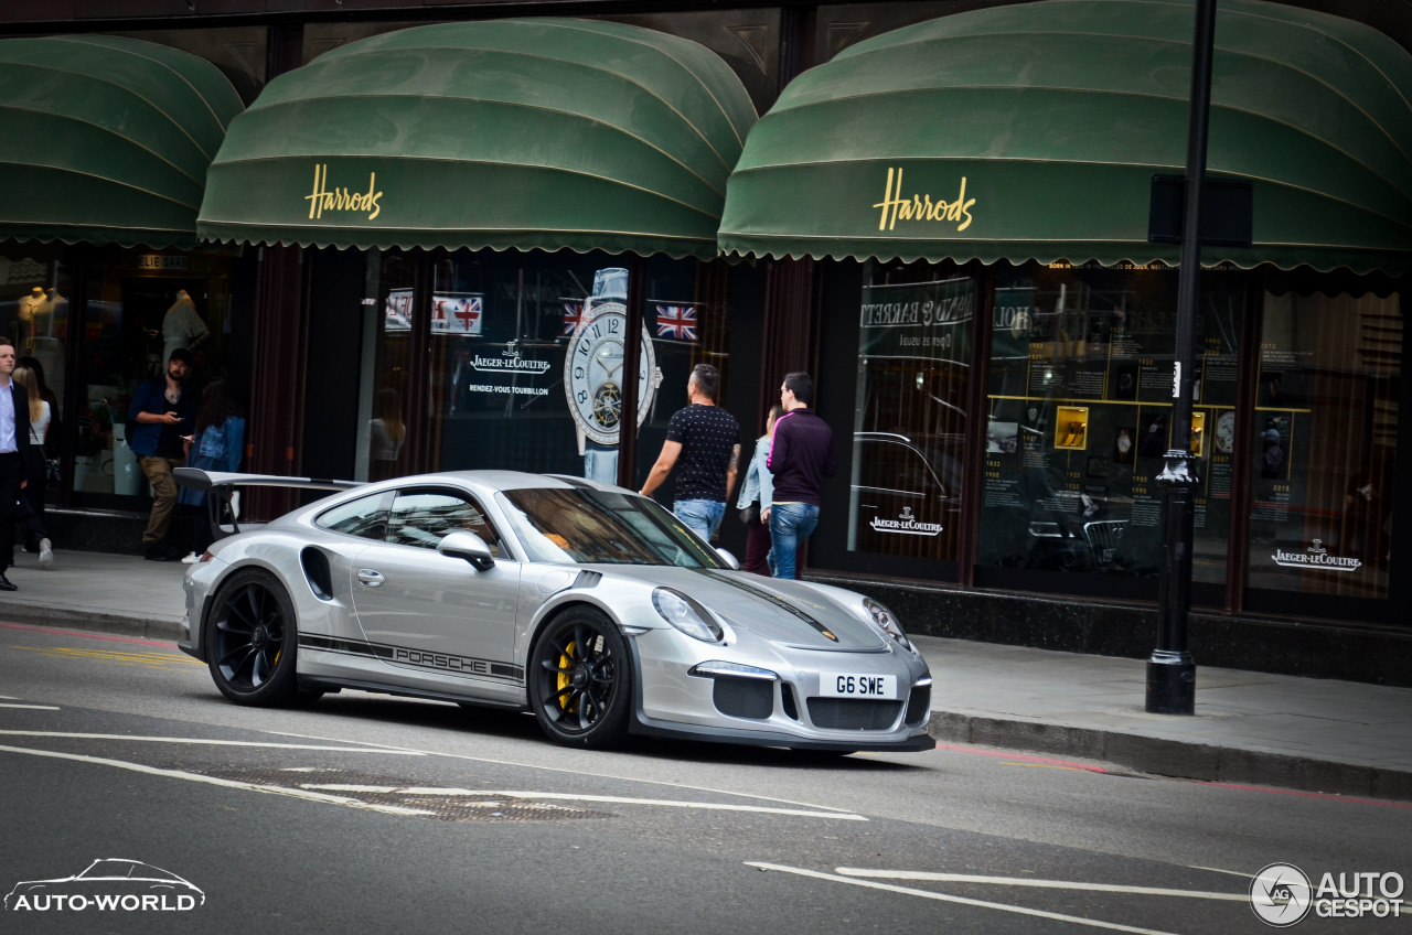
[[[321,486],[179,469],[179,483]],[[626,733],[929,750],[926,662],[877,602],[737,571],[655,501],[498,470],[347,487],[186,572],[184,651],[241,705],[340,688]]]

